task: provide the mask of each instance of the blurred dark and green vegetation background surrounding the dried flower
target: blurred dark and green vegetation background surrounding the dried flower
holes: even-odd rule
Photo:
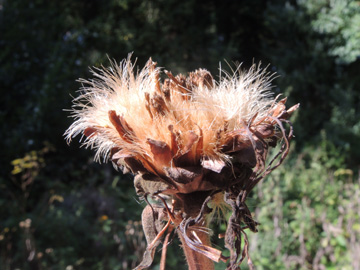
[[[274,93],[301,108],[290,156],[248,200],[261,223],[248,234],[252,260],[257,270],[360,269],[360,1],[0,0],[1,270],[139,262],[132,177],[63,138],[76,80],[129,52],[139,67],[151,56],[216,78],[224,60],[270,64]],[[178,244],[167,269],[186,269]]]

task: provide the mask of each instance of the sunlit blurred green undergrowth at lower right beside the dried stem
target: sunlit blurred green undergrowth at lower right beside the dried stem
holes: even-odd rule
[[[257,269],[356,269],[360,186],[327,144],[292,155],[257,187],[261,226],[250,235]]]

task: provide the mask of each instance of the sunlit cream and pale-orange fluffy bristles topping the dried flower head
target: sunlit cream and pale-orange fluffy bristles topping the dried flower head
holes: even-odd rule
[[[269,91],[273,75],[260,66],[253,65],[247,72],[238,66],[234,74],[221,71],[219,82],[200,69],[191,73],[194,79],[189,89],[187,85],[168,87],[184,81],[184,76],[174,77],[167,71],[170,79],[160,88],[162,70],[155,65],[150,59],[135,73],[129,56],[119,65],[111,62],[109,68],[92,69],[93,79],[80,80],[81,95],[74,99],[72,110],[75,122],[65,133],[68,142],[84,134],[83,144],[97,149],[96,160],[106,161],[115,147],[126,149],[127,154],[150,157],[149,139],[171,145],[170,135],[176,132],[177,140],[186,146],[189,132],[202,133],[201,156],[227,161],[227,154],[221,151],[226,134],[260,121],[277,103]],[[197,82],[198,74],[206,75],[203,82]],[[127,126],[123,136],[112,123],[115,116]]]

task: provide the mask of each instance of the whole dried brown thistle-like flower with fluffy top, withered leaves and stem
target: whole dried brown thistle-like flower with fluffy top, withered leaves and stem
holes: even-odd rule
[[[244,229],[257,226],[245,199],[286,157],[292,137],[287,119],[299,105],[286,110],[286,98],[270,92],[272,75],[255,65],[223,73],[219,82],[199,69],[188,76],[165,70],[161,83],[155,62],[135,74],[130,56],[92,72],[94,79],[81,80],[66,138],[85,135],[97,160],[110,159],[135,175],[136,191],[148,202],[142,216],[148,248],[137,269],[151,264],[156,246],[166,235],[165,247],[173,229],[191,269],[199,261],[212,269],[207,258],[236,269],[248,255]],[[266,163],[269,147],[278,143],[280,150]],[[216,207],[232,210],[225,233],[229,258],[208,239],[206,216]]]

